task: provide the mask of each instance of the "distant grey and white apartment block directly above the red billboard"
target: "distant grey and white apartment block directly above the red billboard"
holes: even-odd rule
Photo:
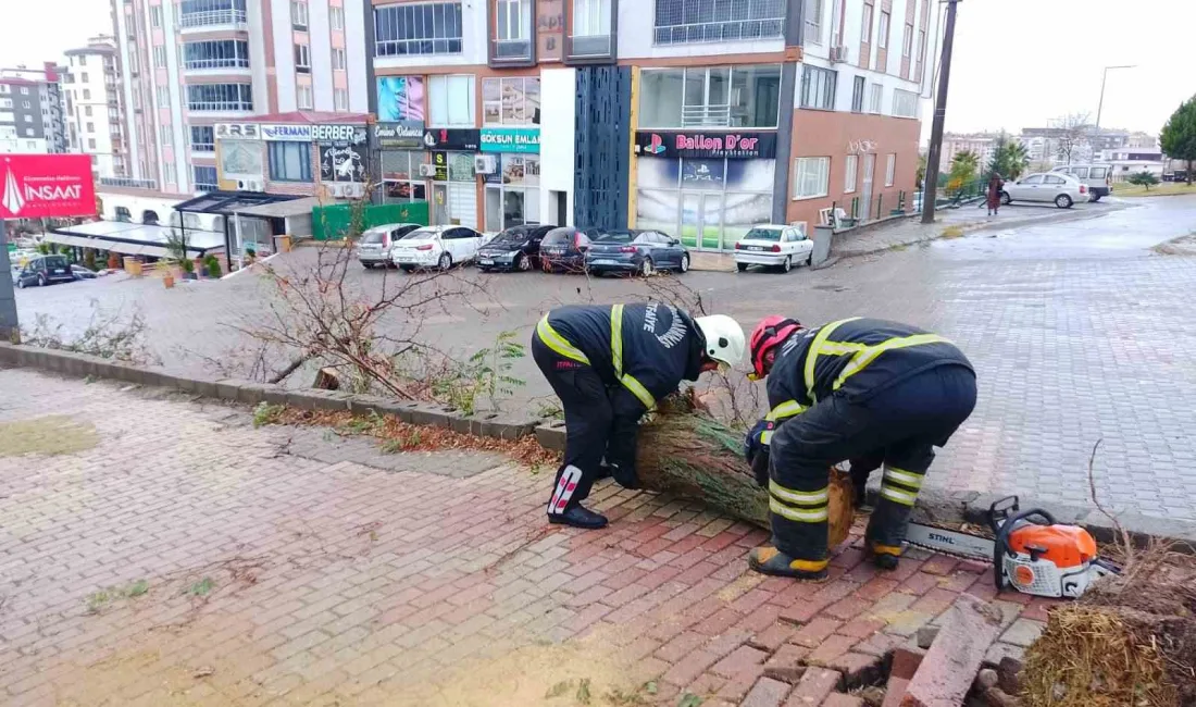
[[[0,152],[63,152],[59,67],[0,69]]]

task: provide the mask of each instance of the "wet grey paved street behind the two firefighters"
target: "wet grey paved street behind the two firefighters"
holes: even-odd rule
[[[849,258],[788,275],[689,273],[709,311],[745,327],[783,311],[819,323],[868,315],[941,333],[980,373],[978,407],[952,440],[927,488],[1020,493],[1042,502],[1087,506],[1093,444],[1100,498],[1143,520],[1196,519],[1196,260],[1152,246],[1196,231],[1196,199],[1136,200],[1103,217],[980,231],[905,250]],[[1099,205],[1092,205],[1099,206]],[[1005,212],[1002,211],[1002,217]],[[310,250],[281,267],[301,267]],[[383,273],[353,273],[376,286]],[[395,275],[391,275],[393,278]],[[402,278],[402,275],[398,275]],[[428,340],[472,352],[502,330],[530,335],[539,313],[561,303],[649,294],[637,280],[541,273],[481,275],[488,297],[425,319]],[[373,285],[371,285],[373,284]],[[251,275],[165,291],[151,281],[93,281],[25,289],[18,306],[81,325],[94,297],[105,310],[139,306],[169,367],[202,370],[237,341],[227,324],[264,312],[268,291]],[[513,401],[550,391],[530,360]],[[1135,516],[1136,514],[1136,516]]]

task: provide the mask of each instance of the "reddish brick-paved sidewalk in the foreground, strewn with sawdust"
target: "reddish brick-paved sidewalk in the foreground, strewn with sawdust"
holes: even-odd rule
[[[524,707],[582,684],[594,705],[859,707],[830,695],[959,593],[1005,612],[993,658],[1050,605],[926,554],[878,574],[843,548],[826,584],[764,579],[744,561],[763,532],[667,498],[600,486],[612,525],[562,530],[549,480],[501,457],[380,469],[316,429],[108,383],[0,371],[16,421],[94,446],[0,450],[12,707]]]

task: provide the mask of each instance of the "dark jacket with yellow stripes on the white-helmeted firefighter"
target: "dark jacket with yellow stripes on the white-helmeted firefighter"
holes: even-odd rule
[[[687,312],[654,301],[555,309],[536,333],[557,354],[592,366],[615,416],[633,421],[682,380],[697,380],[706,347]]]

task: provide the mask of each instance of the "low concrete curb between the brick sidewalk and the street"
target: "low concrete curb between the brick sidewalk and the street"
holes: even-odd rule
[[[349,410],[359,414],[391,415],[411,425],[431,425],[498,439],[515,440],[536,435],[544,449],[565,450],[565,422],[544,420],[529,414],[464,415],[451,407],[397,401],[372,395],[352,395],[334,390],[287,390],[270,383],[255,383],[233,378],[182,377],[139,368],[87,354],[0,342],[0,367],[39,368],[77,378],[105,378],[135,385],[166,388],[179,392],[214,400],[256,406],[286,404],[304,410]],[[880,475],[873,474],[868,499],[875,504],[880,493]],[[1001,496],[980,492],[941,492],[923,489],[917,500],[916,517],[941,524],[970,523],[987,525],[988,508]],[[1060,523],[1082,525],[1100,543],[1117,540],[1117,528],[1100,511],[1088,506],[1037,504],[1026,500],[1023,507],[1042,507]],[[1140,513],[1119,513],[1118,523],[1139,544],[1161,540],[1177,544],[1176,549],[1196,554],[1196,523],[1154,518]]]

